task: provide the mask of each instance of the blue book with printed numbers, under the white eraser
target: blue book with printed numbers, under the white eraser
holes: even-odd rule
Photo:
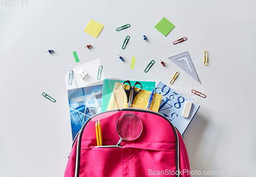
[[[197,113],[200,105],[174,91],[162,82],[158,83],[156,93],[162,95],[158,113],[168,118],[174,126],[178,128],[181,135],[183,135],[189,123]],[[182,116],[186,101],[190,101],[192,103],[188,118],[184,118]]]

